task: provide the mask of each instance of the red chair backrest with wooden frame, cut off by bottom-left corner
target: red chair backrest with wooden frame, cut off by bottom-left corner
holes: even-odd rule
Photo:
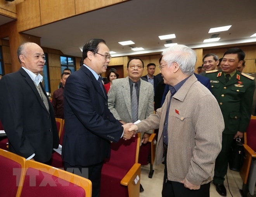
[[[0,196],[19,196],[26,159],[0,149]]]

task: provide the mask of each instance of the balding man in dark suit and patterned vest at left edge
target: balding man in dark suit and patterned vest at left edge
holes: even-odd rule
[[[21,44],[17,54],[22,67],[0,82],[0,119],[9,151],[45,163],[59,145],[54,110],[41,83],[45,54],[33,42]]]

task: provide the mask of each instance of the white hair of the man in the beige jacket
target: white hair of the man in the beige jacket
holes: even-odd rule
[[[175,45],[165,49],[162,53],[163,60],[168,63],[176,62],[180,66],[180,70],[185,75],[193,75],[195,70],[196,54],[195,51],[185,45]]]

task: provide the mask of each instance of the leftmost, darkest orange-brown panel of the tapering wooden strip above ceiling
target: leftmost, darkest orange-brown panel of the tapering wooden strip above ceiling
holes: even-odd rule
[[[17,4],[17,30],[26,31],[41,26],[39,0],[26,0]]]

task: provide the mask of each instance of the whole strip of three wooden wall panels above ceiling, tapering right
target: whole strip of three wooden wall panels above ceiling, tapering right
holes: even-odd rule
[[[125,1],[128,0],[26,0],[16,6],[17,28],[23,32]]]

